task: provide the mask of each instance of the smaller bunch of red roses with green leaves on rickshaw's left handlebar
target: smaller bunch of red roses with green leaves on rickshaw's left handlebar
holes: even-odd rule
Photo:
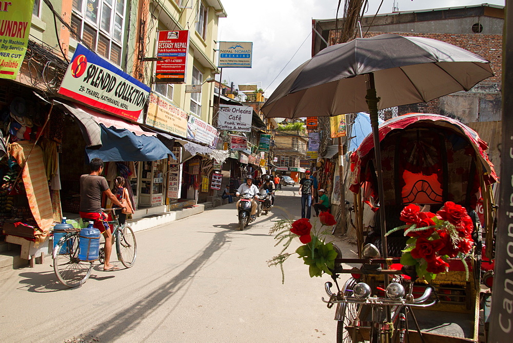
[[[274,239],[278,241],[274,246],[283,243],[283,250],[279,255],[268,260],[267,265],[280,265],[282,283],[285,282],[283,262],[293,254],[298,254],[298,258],[302,258],[304,263],[309,266],[310,277],[321,276],[323,273],[332,274],[331,270],[335,266],[338,248],[331,242],[326,243],[325,236],[328,234],[328,231],[323,230],[323,227],[333,226],[337,222],[327,212],[321,212],[319,219],[321,221],[321,228],[319,230],[316,230],[315,226],[312,230],[312,224],[307,218],[296,221],[284,219],[271,227],[269,234],[275,235]],[[298,237],[303,245],[299,246],[294,253],[286,253],[285,251],[292,241]]]

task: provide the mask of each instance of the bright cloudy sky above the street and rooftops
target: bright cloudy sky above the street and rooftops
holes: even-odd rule
[[[311,58],[312,19],[336,17],[338,0],[220,0],[227,17],[219,18],[218,40],[253,42],[252,68],[223,68],[222,80],[257,84],[268,98],[283,79]],[[381,0],[369,0],[365,15],[374,15]],[[378,13],[392,12],[393,0],[383,0]],[[400,11],[446,8],[504,0],[396,0]],[[341,2],[339,17],[343,11]],[[219,80],[219,75],[216,79]]]

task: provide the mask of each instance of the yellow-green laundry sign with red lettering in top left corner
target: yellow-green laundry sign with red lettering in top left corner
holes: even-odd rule
[[[0,78],[15,80],[29,44],[34,0],[0,1]]]

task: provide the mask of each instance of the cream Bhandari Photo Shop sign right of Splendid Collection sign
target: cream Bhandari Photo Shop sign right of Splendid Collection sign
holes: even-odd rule
[[[145,123],[173,135],[187,137],[187,112],[153,92],[150,94]]]

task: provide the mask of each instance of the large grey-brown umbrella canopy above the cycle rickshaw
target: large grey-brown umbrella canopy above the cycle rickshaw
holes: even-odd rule
[[[488,61],[424,37],[380,34],[327,47],[295,69],[262,107],[267,118],[367,111],[372,73],[378,109],[469,90],[493,75]]]

